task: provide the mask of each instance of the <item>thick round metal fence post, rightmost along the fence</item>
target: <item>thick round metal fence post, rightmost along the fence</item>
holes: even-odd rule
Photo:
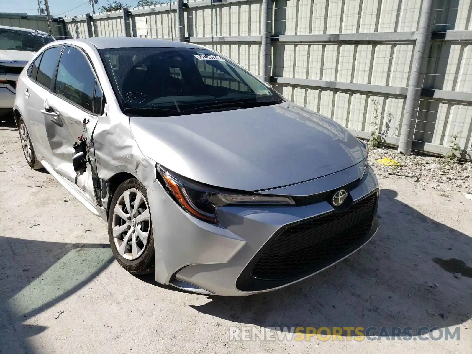
[[[421,97],[421,67],[424,57],[424,47],[431,38],[430,12],[433,0],[424,0],[421,7],[420,24],[416,33],[416,44],[414,47],[412,71],[410,73],[410,83],[406,93],[405,113],[403,115],[402,131],[400,133],[400,142],[398,143],[398,152],[409,155],[412,148],[414,137],[414,126],[419,109],[419,98]],[[425,60],[427,60],[425,58]]]

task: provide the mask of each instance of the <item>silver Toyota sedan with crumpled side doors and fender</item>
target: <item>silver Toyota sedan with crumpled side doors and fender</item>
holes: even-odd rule
[[[108,223],[133,274],[201,294],[285,287],[378,227],[367,145],[190,43],[52,42],[18,79],[25,158]]]

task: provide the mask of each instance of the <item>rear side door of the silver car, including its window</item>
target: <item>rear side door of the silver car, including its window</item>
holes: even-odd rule
[[[25,80],[26,88],[18,95],[25,96],[25,122],[28,125],[34,151],[46,161],[51,160],[51,149],[45,130],[44,101],[51,90],[52,77],[56,71],[62,46],[45,50],[32,66],[28,68],[29,80]]]

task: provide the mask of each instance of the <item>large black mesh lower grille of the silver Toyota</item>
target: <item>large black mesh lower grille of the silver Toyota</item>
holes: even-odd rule
[[[278,287],[345,257],[370,237],[377,191],[344,211],[290,224],[272,237],[236,281],[244,291]]]

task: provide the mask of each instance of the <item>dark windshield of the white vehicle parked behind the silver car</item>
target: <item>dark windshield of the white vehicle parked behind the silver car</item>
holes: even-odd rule
[[[39,51],[53,41],[54,38],[49,34],[0,28],[0,50]]]

